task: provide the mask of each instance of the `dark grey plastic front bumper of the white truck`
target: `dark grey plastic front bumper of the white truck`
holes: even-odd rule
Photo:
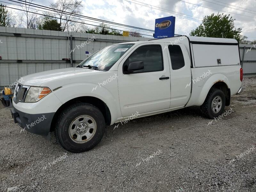
[[[52,119],[55,113],[28,114],[13,107],[11,109],[14,123],[18,123],[23,130],[42,135],[49,135]]]

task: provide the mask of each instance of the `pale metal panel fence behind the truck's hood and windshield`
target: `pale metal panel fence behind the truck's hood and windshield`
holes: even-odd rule
[[[70,35],[74,50],[73,66],[87,57],[85,51],[94,53],[111,44],[150,39],[0,27],[0,87],[9,86],[28,74],[70,67],[70,61],[62,60],[70,58]],[[82,43],[85,44],[83,47],[80,46]]]

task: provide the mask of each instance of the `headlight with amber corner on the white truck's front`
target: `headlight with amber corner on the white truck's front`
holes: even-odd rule
[[[33,103],[37,102],[46,95],[52,92],[48,87],[30,87],[26,95],[25,102]]]

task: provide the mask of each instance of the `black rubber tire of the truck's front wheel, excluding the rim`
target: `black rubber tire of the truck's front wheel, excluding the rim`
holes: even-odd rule
[[[75,142],[74,137],[70,135],[71,124],[74,124],[75,119],[78,119],[80,116],[90,116],[92,117],[94,124],[96,124],[96,129],[93,133],[94,135],[88,141],[85,139],[84,143]],[[73,153],[80,153],[94,148],[100,142],[104,135],[105,127],[104,116],[97,107],[88,103],[76,103],[63,110],[60,114],[57,120],[55,133],[57,140],[63,148]],[[78,127],[73,128],[73,131],[74,129],[76,131]],[[73,139],[71,139],[71,137]]]

